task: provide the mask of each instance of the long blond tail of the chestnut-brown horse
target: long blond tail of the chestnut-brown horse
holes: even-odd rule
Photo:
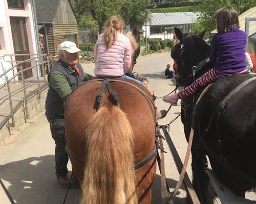
[[[116,106],[101,107],[85,133],[81,204],[136,204],[133,130]]]

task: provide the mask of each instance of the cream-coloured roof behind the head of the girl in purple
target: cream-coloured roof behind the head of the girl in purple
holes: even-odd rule
[[[245,18],[249,18],[249,17],[256,17],[256,6],[252,7],[251,9],[245,11],[244,13],[238,16],[240,27],[241,27],[240,30],[245,31]],[[215,29],[214,31],[211,31],[211,33],[217,33],[217,29]],[[248,36],[251,36],[254,33],[256,33],[256,21],[250,21]]]

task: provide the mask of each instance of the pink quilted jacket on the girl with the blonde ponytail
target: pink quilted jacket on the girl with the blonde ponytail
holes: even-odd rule
[[[96,42],[94,49],[96,77],[121,77],[131,65],[131,42],[118,33],[114,45],[106,49],[103,34]]]

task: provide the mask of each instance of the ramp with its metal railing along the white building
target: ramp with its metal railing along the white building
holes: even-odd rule
[[[13,57],[16,56],[29,56],[30,58],[24,61],[13,60]],[[0,129],[8,123],[7,126],[10,131],[10,127],[15,127],[16,125],[14,113],[16,113],[20,107],[23,106],[25,122],[30,118],[28,100],[36,94],[38,95],[38,100],[40,100],[41,91],[48,87],[45,72],[43,70],[42,77],[40,77],[39,69],[45,66],[50,68],[50,65],[52,65],[53,62],[52,60],[49,60],[49,56],[47,54],[7,54],[0,57],[0,59],[1,58],[4,62],[11,63],[11,67],[0,74],[0,78],[4,78],[5,80],[5,82],[0,85]],[[3,61],[1,61],[0,65],[3,70],[5,70]],[[31,66],[24,68],[23,65],[27,62],[30,62]],[[16,68],[20,68],[20,71],[17,71],[14,74]],[[30,69],[36,70],[36,76],[25,79],[24,72]],[[12,76],[10,77],[10,75]],[[21,75],[21,80],[17,80],[18,75],[19,77]],[[11,89],[13,89],[13,91]],[[9,108],[7,107],[8,104]],[[11,123],[9,122],[10,118],[12,121]]]

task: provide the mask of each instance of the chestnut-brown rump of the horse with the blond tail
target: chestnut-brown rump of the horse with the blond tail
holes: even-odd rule
[[[132,131],[135,136],[134,163],[138,163],[143,160],[155,146],[154,101],[150,92],[148,92],[146,88],[138,85],[138,83],[131,80],[118,79],[118,81],[119,80],[126,81],[130,84],[138,86],[139,89],[144,91],[148,97],[151,98],[151,100],[146,99],[146,97],[143,96],[143,94],[141,94],[136,88],[128,84],[116,81],[110,82],[111,88],[115,93],[118,94],[120,109],[125,113],[125,116],[130,123],[129,125],[132,127]],[[96,114],[95,102],[97,95],[100,92],[101,85],[102,81],[97,80],[82,84],[71,93],[65,108],[65,132],[67,145],[71,154],[78,160],[83,161],[85,165],[86,155],[84,155],[84,152],[86,151],[85,147],[87,138],[85,138],[84,135],[86,135],[85,133],[87,131],[89,122]],[[105,88],[103,92],[101,107],[106,107],[111,110],[111,107],[115,106],[116,102],[110,97],[109,91]],[[110,123],[110,126],[115,125],[111,121],[111,115],[108,115],[106,118],[108,118],[109,121],[107,122]],[[102,125],[99,123],[97,127],[101,129]],[[121,126],[118,128],[122,129]],[[107,133],[104,136],[107,137]],[[120,141],[114,142],[118,143]],[[72,161],[72,159],[71,162],[74,173],[81,184],[83,178],[83,167]],[[151,165],[152,162],[148,162],[148,164],[136,171],[138,180],[141,179],[141,177],[145,174]],[[127,166],[127,168],[129,167]],[[151,175],[154,174],[155,169],[156,168],[152,168],[152,170],[149,170]],[[147,178],[145,180],[147,180]],[[147,186],[144,181],[142,181],[142,186],[143,185]],[[139,195],[141,194],[139,193]]]

